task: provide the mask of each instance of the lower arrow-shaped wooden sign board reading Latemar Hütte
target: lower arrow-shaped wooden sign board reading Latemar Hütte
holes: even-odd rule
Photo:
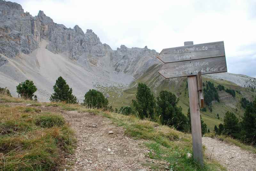
[[[202,72],[202,75],[227,72],[226,57],[169,63],[165,64],[159,73],[164,78],[176,78],[197,75],[199,71]]]

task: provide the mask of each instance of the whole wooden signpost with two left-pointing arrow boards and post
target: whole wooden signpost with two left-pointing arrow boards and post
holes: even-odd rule
[[[202,74],[227,72],[224,43],[184,42],[184,46],[163,49],[157,58],[165,63],[159,71],[164,78],[188,76],[193,158],[204,166],[199,110],[204,107]]]

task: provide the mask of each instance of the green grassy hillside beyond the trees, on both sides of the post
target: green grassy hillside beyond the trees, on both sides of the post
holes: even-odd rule
[[[135,99],[138,83],[143,82],[150,87],[155,97],[159,95],[159,92],[161,90],[168,90],[176,94],[176,96],[180,98],[179,105],[182,107],[182,112],[184,114],[187,114],[189,107],[187,77],[165,79],[158,73],[160,67],[161,65],[154,65],[150,67],[142,76],[132,82],[129,88],[118,89],[116,87],[101,87],[100,89],[104,93],[109,94],[108,100],[113,108],[120,108],[124,105],[131,105],[132,99]],[[244,114],[244,108],[242,108],[240,103],[241,98],[246,97],[251,101],[252,98],[256,96],[256,90],[252,91],[251,88],[240,87],[235,83],[228,82],[226,80],[214,80],[203,76],[203,82],[206,83],[206,81],[212,82],[214,84],[214,87],[217,87],[220,84],[223,85],[225,89],[233,89],[241,93],[239,94],[236,92],[236,96],[232,97],[224,90],[218,90],[220,102],[213,102],[212,112],[210,112],[208,106],[206,106],[206,112],[201,111],[204,122],[211,130],[213,130],[214,125],[219,125],[220,123],[223,123],[223,118],[227,111],[235,113],[236,116],[241,119]],[[220,119],[217,118],[217,114],[219,114]]]

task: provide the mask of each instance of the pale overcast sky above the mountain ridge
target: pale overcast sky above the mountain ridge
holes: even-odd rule
[[[224,41],[228,72],[256,77],[256,0],[11,0],[35,16],[86,32],[113,50],[121,44],[163,48]]]

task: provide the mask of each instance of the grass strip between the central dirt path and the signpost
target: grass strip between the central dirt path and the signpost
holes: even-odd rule
[[[216,161],[204,159],[204,168],[201,168],[193,159],[186,157],[187,153],[192,153],[192,138],[189,134],[184,134],[173,128],[159,125],[150,120],[140,120],[134,115],[122,115],[118,113],[103,112],[98,109],[80,108],[79,112],[89,112],[108,117],[118,126],[125,128],[125,134],[135,139],[144,139],[145,145],[150,149],[145,154],[151,159],[170,163],[168,168],[177,171],[206,171],[206,170],[226,170]],[[157,164],[150,165],[154,170],[164,170],[163,166]]]

